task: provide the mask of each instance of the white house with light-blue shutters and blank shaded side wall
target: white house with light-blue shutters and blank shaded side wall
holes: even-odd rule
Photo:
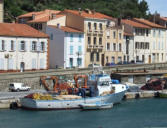
[[[48,26],[50,35],[50,68],[84,67],[84,33],[66,26]]]

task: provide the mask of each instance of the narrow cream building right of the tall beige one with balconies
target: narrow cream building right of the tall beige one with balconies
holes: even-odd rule
[[[122,63],[123,30],[121,24],[115,24],[106,29],[105,63]]]

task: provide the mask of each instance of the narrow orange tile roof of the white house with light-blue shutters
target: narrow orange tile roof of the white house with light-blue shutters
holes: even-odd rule
[[[58,29],[58,27],[55,26],[55,25],[49,25],[49,26],[52,27],[52,28]],[[61,26],[60,29],[61,29],[62,31],[64,31],[64,32],[83,33],[83,32],[80,31],[80,30],[77,30],[77,29],[71,28],[71,27],[67,27],[67,26]]]

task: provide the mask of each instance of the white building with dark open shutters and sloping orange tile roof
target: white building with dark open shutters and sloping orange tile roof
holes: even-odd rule
[[[151,27],[132,20],[123,20],[123,24],[125,33],[130,34],[129,39],[124,37],[124,60],[151,63]]]

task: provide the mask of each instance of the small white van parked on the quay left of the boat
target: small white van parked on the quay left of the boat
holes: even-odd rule
[[[24,83],[11,83],[9,84],[9,91],[29,91],[31,87],[25,85]]]

